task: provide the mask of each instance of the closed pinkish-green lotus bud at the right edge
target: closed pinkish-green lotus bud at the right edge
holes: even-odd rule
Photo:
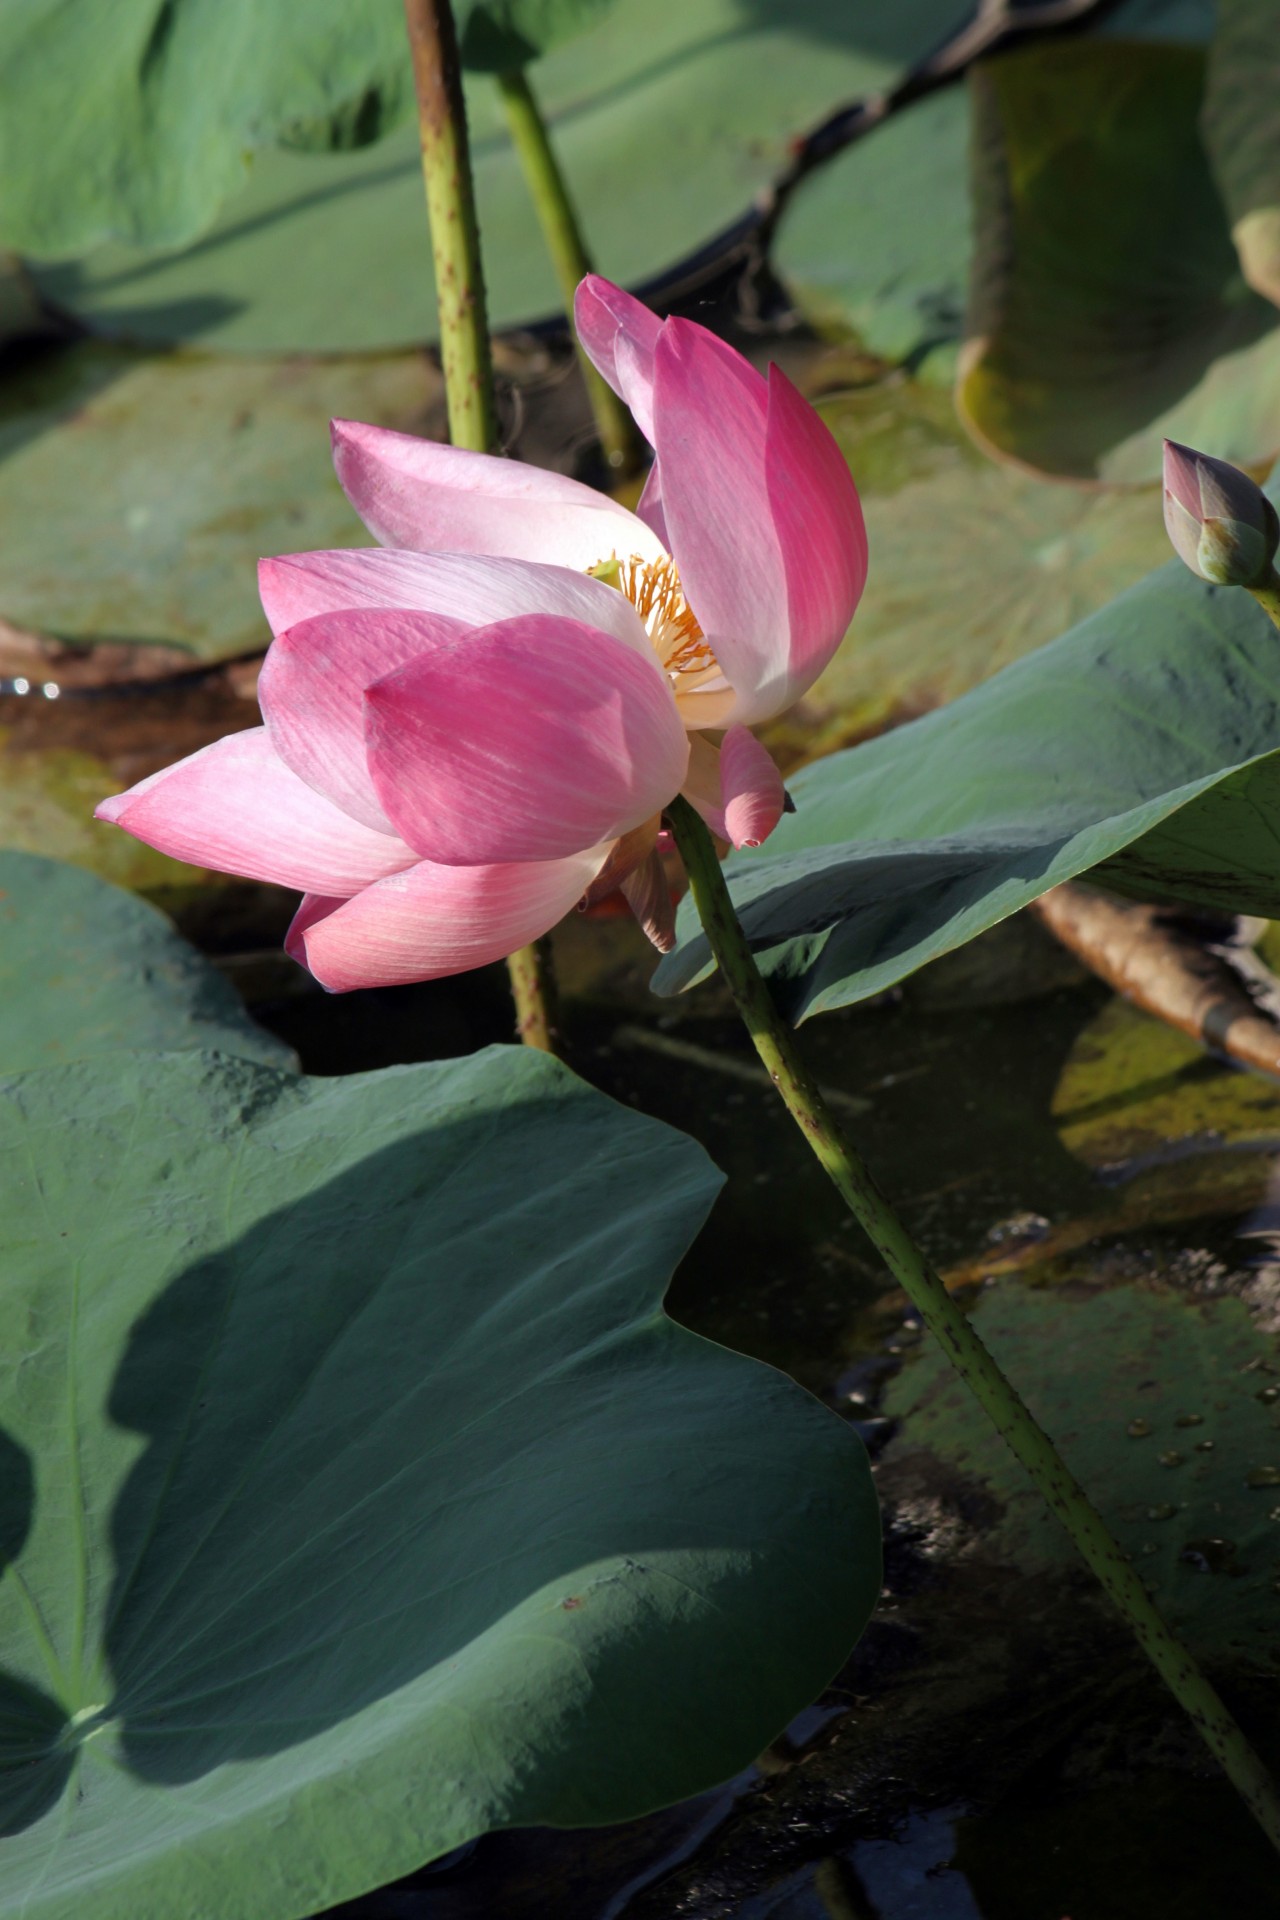
[[[1263,586],[1280,545],[1261,486],[1176,440],[1165,442],[1165,530],[1178,559],[1219,588]]]

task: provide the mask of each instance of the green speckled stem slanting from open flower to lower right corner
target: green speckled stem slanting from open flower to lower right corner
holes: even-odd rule
[[[1280,1791],[1276,1791],[1274,1780],[1188,1649],[1161,1619],[1151,1596],[1050,1436],[1031,1417],[965,1313],[912,1242],[860,1156],[842,1137],[800,1058],[791,1027],[777,1012],[756,968],[702,820],[683,799],[677,799],[666,816],[720,972],[791,1117],[804,1133],[850,1213],[915,1306],[925,1327],[942,1344],[946,1357],[1063,1523],[1080,1555],[1128,1620],[1138,1645],[1174,1699],[1186,1709],[1272,1847],[1280,1851]]]

